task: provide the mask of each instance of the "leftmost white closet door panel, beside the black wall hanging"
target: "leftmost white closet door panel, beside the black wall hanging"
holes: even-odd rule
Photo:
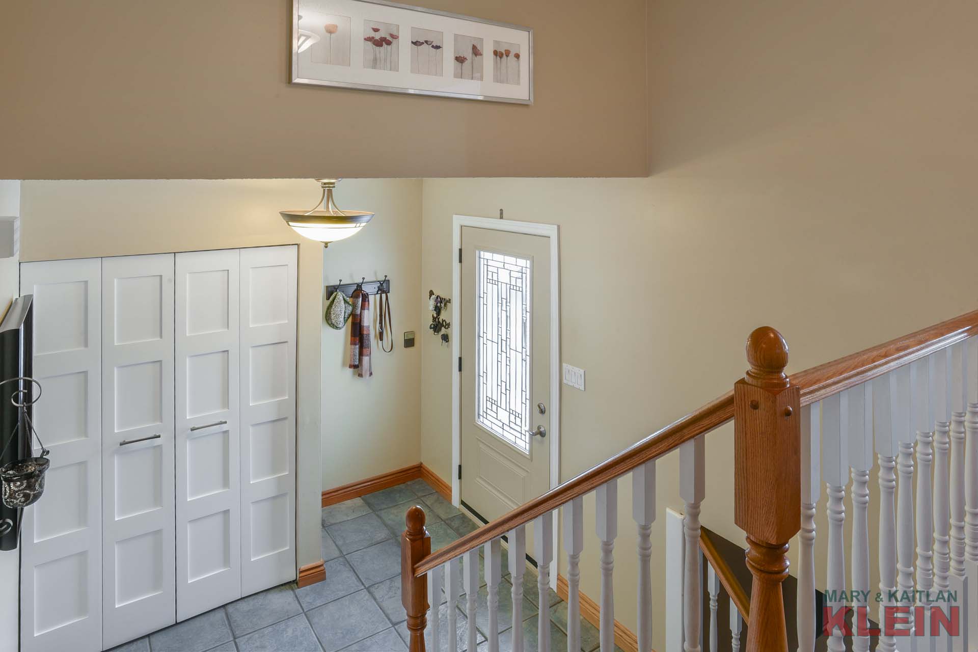
[[[43,386],[34,422],[51,451],[44,496],[23,511],[24,652],[102,649],[101,274],[98,258],[21,265]]]

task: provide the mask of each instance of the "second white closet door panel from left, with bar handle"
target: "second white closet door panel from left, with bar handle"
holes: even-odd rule
[[[176,622],[173,254],[104,258],[102,315],[109,648]]]

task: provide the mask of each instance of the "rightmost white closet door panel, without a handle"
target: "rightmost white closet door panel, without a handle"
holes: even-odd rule
[[[293,245],[241,251],[242,594],[295,579]]]

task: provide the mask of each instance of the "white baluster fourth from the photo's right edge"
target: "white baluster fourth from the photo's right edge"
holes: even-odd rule
[[[934,415],[930,402],[930,359],[911,363],[911,421],[916,431],[916,590],[917,604],[925,608],[924,617],[930,621],[930,589],[934,587],[933,537],[934,514],[931,498],[931,444],[934,441]],[[920,591],[923,591],[922,593]]]

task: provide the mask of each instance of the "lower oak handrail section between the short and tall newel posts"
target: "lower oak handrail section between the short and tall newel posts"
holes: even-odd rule
[[[424,575],[432,568],[451,561],[482,543],[501,537],[513,528],[525,525],[536,517],[555,510],[565,502],[594,491],[646,461],[663,456],[684,442],[707,433],[732,418],[733,392],[727,392],[699,410],[645,437],[618,455],[555,487],[543,496],[516,507],[495,521],[425,557],[422,563],[415,567],[415,577]]]

